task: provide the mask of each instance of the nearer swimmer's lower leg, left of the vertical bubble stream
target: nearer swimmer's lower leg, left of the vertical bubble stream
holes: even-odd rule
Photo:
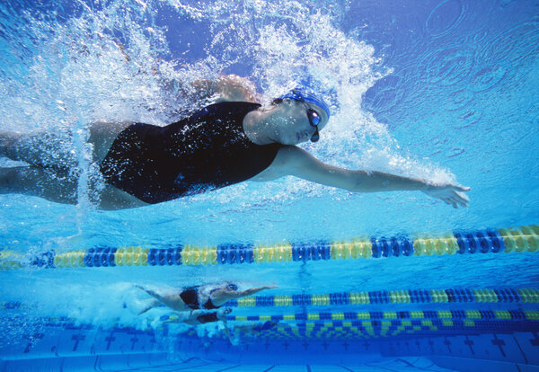
[[[0,168],[0,194],[18,193],[76,204],[77,180],[36,166]]]

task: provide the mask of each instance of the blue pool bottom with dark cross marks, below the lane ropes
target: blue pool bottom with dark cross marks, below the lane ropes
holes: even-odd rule
[[[0,371],[361,371],[376,369],[375,365],[385,366],[381,370],[539,371],[537,350],[537,332],[410,334],[386,340],[234,346],[221,338],[185,334],[45,327],[25,342],[1,348]]]

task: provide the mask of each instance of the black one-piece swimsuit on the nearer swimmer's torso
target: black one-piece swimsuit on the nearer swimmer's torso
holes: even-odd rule
[[[159,203],[246,181],[270,166],[280,145],[243,131],[252,102],[221,102],[166,127],[136,123],[110,146],[100,169],[111,185]]]

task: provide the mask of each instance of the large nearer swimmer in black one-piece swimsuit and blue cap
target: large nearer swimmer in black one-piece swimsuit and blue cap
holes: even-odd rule
[[[224,76],[208,84],[220,102],[167,127],[94,123],[88,142],[104,187],[93,180],[90,194],[99,195],[99,207],[141,207],[287,175],[357,192],[420,190],[455,208],[467,206],[467,187],[323,164],[296,145],[318,140],[330,119],[328,105],[312,93],[293,90],[263,107],[241,82]],[[66,137],[0,133],[0,156],[30,164],[0,168],[0,193],[75,204],[77,159],[66,148]]]

